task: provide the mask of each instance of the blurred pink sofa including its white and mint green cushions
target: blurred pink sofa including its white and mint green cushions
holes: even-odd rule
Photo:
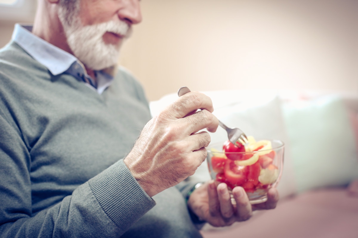
[[[195,90],[192,88],[192,90]],[[199,90],[197,90],[199,91]],[[358,95],[347,92],[224,90],[211,97],[214,115],[255,138],[285,143],[280,201],[229,227],[205,224],[204,238],[358,238]],[[154,115],[177,99],[151,101]],[[226,131],[210,133],[224,142]],[[193,175],[210,179],[204,162]]]

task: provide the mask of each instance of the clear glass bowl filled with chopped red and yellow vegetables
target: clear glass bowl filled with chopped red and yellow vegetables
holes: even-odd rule
[[[226,183],[230,192],[236,186],[243,187],[251,204],[267,201],[267,192],[277,186],[282,175],[285,144],[280,140],[257,141],[260,142],[269,143],[269,149],[224,152],[224,142],[207,147],[211,178],[217,185]]]

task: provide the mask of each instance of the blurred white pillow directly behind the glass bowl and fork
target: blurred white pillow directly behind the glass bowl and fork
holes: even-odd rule
[[[238,127],[246,135],[261,139],[279,139],[285,143],[284,171],[277,187],[280,197],[286,197],[296,192],[294,170],[289,157],[289,144],[283,121],[280,100],[275,92],[265,90],[232,90],[203,92],[211,97],[213,114],[229,127]],[[158,101],[150,103],[152,115],[158,114],[165,106],[175,101],[178,96],[173,93]],[[227,133],[218,128],[210,133],[211,143],[224,142]],[[207,181],[210,179],[207,162],[205,161],[194,174],[194,177]]]

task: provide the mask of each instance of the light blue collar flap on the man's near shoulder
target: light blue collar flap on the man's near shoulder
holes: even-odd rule
[[[32,34],[31,31],[32,26],[16,24],[12,39],[53,75],[62,74],[77,61],[75,56]]]

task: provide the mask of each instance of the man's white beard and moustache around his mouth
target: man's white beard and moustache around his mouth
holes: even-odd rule
[[[66,10],[59,11],[59,19],[67,37],[67,44],[84,65],[92,70],[102,70],[116,65],[121,44],[106,44],[103,35],[108,32],[128,37],[130,26],[121,20],[103,22],[96,25],[82,26],[78,16],[66,19],[69,14]]]

